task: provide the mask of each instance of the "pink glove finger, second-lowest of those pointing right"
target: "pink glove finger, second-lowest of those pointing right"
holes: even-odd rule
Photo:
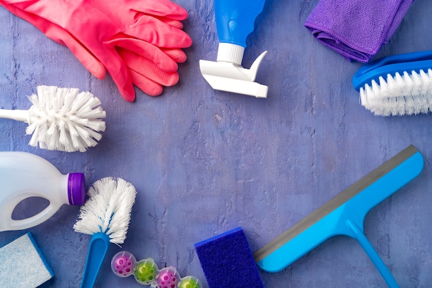
[[[140,75],[143,75],[158,84],[163,86],[173,86],[179,81],[179,74],[177,71],[168,72],[161,70],[161,68],[153,62],[149,61],[145,57],[135,54],[134,52],[130,52],[129,50],[119,48],[118,52],[121,59],[123,59],[130,70],[134,70]]]

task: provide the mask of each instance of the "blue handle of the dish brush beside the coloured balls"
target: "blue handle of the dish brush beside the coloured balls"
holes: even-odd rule
[[[110,238],[106,233],[99,232],[93,234],[88,246],[86,267],[84,267],[81,288],[92,288],[95,285],[97,273],[99,273],[109,245]]]

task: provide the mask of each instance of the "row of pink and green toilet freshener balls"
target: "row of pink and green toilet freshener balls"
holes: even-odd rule
[[[194,276],[181,278],[173,266],[159,270],[153,258],[137,261],[128,251],[120,251],[112,257],[111,269],[123,278],[133,274],[139,284],[154,288],[203,288],[201,281]]]

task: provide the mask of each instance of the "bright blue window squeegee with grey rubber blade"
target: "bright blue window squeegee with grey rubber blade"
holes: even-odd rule
[[[364,236],[364,218],[373,207],[417,177],[423,165],[418,149],[408,146],[256,251],[257,265],[265,271],[280,271],[328,238],[344,235],[360,242],[389,287],[399,287]]]

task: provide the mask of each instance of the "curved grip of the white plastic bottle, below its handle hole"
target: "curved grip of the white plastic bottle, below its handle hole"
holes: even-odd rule
[[[39,225],[42,222],[48,220],[48,218],[54,215],[59,209],[59,205],[50,202],[50,204],[48,205],[48,207],[46,207],[46,209],[43,209],[36,215],[32,215],[31,217],[26,219],[14,220],[12,219],[12,211],[17,206],[17,204],[11,205],[10,207],[12,208],[8,209],[10,215],[9,222],[4,222],[3,227],[0,227],[0,231],[23,230],[23,229],[28,229],[30,227],[35,227],[36,225]]]

